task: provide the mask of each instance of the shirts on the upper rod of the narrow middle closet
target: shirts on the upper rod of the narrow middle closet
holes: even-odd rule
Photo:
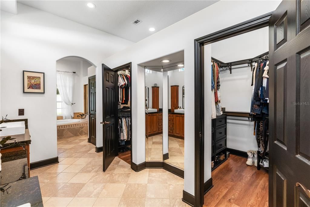
[[[129,71],[119,71],[118,73],[118,104],[128,104],[130,101],[130,74]]]

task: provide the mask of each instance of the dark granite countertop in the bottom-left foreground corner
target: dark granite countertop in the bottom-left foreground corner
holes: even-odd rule
[[[43,207],[38,176],[11,182],[7,186],[1,185],[1,188],[8,188],[4,194],[1,192],[1,207],[19,206],[25,203]]]

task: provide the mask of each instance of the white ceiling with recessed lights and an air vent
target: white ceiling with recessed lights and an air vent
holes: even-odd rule
[[[17,2],[138,42],[217,1],[19,0]],[[87,7],[87,2],[94,3],[96,8]],[[137,18],[142,22],[138,25],[131,24]],[[155,31],[150,32],[148,30],[150,27],[154,27]]]

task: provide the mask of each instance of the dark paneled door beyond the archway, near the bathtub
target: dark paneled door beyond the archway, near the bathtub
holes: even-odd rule
[[[96,145],[96,76],[88,78],[88,85],[88,142]]]

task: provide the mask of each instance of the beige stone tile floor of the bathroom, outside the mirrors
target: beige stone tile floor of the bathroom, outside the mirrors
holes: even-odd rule
[[[102,172],[102,153],[87,136],[58,142],[59,163],[30,171],[38,176],[49,206],[188,206],[182,201],[184,180],[163,169],[131,170],[115,158]]]

